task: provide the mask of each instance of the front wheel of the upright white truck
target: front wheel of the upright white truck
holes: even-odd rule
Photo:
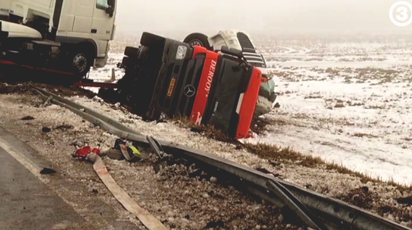
[[[69,55],[68,65],[75,73],[76,78],[82,78],[89,72],[92,63],[90,56],[86,52],[76,50]]]

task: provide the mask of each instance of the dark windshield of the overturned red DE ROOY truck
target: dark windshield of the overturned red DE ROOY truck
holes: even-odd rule
[[[239,66],[238,60],[227,56],[217,68],[215,87],[211,90],[205,118],[216,128],[235,136],[239,122],[241,95],[248,88],[251,72]],[[240,102],[239,102],[240,101]]]

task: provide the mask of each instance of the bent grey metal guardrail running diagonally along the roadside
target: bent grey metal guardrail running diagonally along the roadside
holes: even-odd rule
[[[67,108],[80,115],[100,128],[134,141],[144,147],[150,147],[149,140],[140,132],[136,132],[109,117],[70,100],[63,99],[46,90],[32,86],[35,91],[47,100],[50,96],[51,103]],[[305,223],[315,229],[359,229],[359,230],[383,230],[383,229],[409,229],[393,221],[382,218],[356,206],[333,199],[322,194],[309,191],[292,183],[280,180],[271,175],[264,174],[252,168],[237,164],[213,154],[192,149],[178,143],[158,141],[167,154],[195,161],[199,165],[207,166],[241,183],[242,187],[253,195],[264,199],[278,207],[288,205],[296,215]],[[290,193],[290,195],[285,196]],[[296,199],[297,201],[290,200]],[[288,202],[289,200],[289,202]],[[299,207],[300,206],[300,207]],[[303,207],[301,207],[303,206]],[[310,211],[307,213],[307,209]],[[314,215],[314,216],[312,216]]]

